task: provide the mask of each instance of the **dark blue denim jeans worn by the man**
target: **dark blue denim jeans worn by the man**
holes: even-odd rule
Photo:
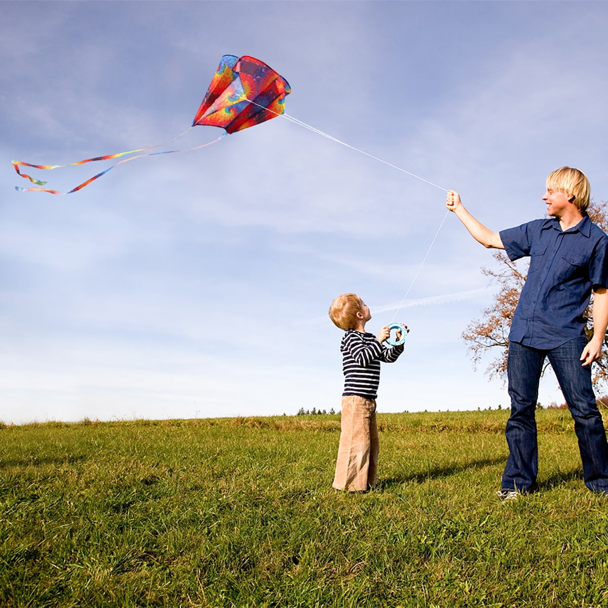
[[[509,458],[502,475],[502,489],[529,492],[538,472],[536,402],[545,357],[558,378],[581,451],[585,485],[593,492],[608,493],[608,443],[591,384],[591,365],[582,367],[580,357],[587,344],[584,336],[551,350],[538,350],[510,342],[508,356],[511,416],[506,423]]]

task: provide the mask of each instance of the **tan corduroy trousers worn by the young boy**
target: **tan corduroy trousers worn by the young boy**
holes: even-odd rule
[[[378,451],[376,399],[343,396],[334,488],[358,492],[373,487],[376,484]]]

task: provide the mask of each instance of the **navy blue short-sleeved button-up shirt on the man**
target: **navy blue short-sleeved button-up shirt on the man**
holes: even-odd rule
[[[535,219],[500,239],[511,260],[530,256],[509,339],[548,350],[583,335],[592,288],[608,287],[606,233],[584,216],[565,232],[556,218]]]

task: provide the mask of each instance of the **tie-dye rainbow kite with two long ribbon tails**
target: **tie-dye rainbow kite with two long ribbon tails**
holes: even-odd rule
[[[188,150],[198,150],[212,143],[218,142],[224,136],[242,131],[250,126],[259,125],[260,123],[270,120],[275,116],[280,116],[285,112],[285,96],[291,92],[291,87],[288,81],[280,74],[275,72],[271,67],[267,66],[263,61],[244,55],[243,57],[235,57],[235,55],[224,55],[219,61],[218,69],[212,78],[212,81],[207,89],[207,93],[202,100],[192,125],[188,127],[184,133],[198,125],[218,126],[224,129],[224,133],[217,139],[209,143],[204,143],[195,148]],[[184,135],[184,133],[173,137],[170,141],[174,141]],[[119,152],[117,154],[108,154],[107,156],[96,156],[88,158],[84,161],[72,162],[67,165],[32,165],[29,162],[12,161],[15,171],[22,177],[29,179],[30,182],[38,186],[43,186],[47,182],[32,178],[26,173],[21,173],[19,167],[32,167],[35,169],[57,169],[60,167],[69,167],[71,165],[83,165],[87,162],[108,161],[110,159],[126,156],[126,154],[134,154],[136,152],[144,152],[153,150],[161,145],[151,146],[148,148],[139,148],[138,150],[130,150],[128,152]],[[157,154],[172,154],[174,152],[182,152],[184,150],[166,150],[163,152],[153,152],[150,154],[139,154],[123,159],[115,165],[107,168],[105,171],[98,173],[92,178],[86,180],[69,192],[58,192],[48,188],[21,188],[15,186],[15,190],[19,192],[49,192],[51,194],[63,195],[78,192],[81,188],[90,184],[103,174],[108,173],[114,167],[123,162],[133,161],[136,158],[143,156],[156,156]]]

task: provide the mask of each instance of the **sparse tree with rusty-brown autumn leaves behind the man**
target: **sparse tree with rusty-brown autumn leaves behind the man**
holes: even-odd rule
[[[604,232],[608,233],[608,210],[606,209],[607,202],[595,203],[591,202],[587,213],[591,220],[597,224]],[[509,347],[509,330],[513,313],[519,301],[519,294],[522,291],[523,283],[525,283],[528,274],[528,263],[514,263],[502,250],[497,250],[493,254],[494,259],[498,262],[496,268],[482,268],[482,274],[490,277],[491,282],[496,281],[499,289],[494,297],[494,303],[488,306],[483,313],[481,319],[477,319],[469,323],[466,330],[463,331],[462,337],[465,342],[468,342],[468,351],[474,363],[477,364],[483,355],[494,349],[499,355],[490,362],[486,373],[490,378],[506,378],[506,356]],[[587,325],[585,333],[587,340],[593,336],[593,296],[587,310],[585,318]],[[604,353],[601,359],[595,362],[593,375],[593,384],[596,387],[601,387],[608,384],[608,356],[606,349],[608,347],[608,338],[604,336]],[[548,362],[545,364],[543,373],[549,367]]]

